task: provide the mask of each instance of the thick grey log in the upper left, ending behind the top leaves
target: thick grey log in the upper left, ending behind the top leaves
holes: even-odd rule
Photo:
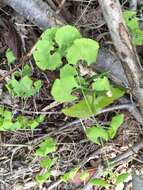
[[[42,30],[65,23],[64,19],[42,0],[3,0],[3,2]]]

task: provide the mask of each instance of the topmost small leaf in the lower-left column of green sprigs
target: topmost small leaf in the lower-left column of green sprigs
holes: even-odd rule
[[[56,151],[56,142],[51,137],[48,137],[38,146],[39,148],[36,150],[37,156],[46,156],[47,154]]]

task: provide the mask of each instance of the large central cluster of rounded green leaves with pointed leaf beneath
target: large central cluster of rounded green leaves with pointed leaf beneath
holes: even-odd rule
[[[33,57],[41,70],[60,71],[51,89],[54,100],[59,103],[76,101],[62,110],[67,116],[90,117],[124,94],[111,86],[106,76],[95,76],[90,83],[81,76],[79,64],[89,67],[95,63],[98,50],[98,42],[83,38],[69,25],[46,30],[34,47]],[[81,96],[83,100],[79,100]]]

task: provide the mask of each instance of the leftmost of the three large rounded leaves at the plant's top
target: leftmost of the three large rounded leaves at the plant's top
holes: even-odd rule
[[[54,50],[54,38],[57,28],[46,30],[34,47],[33,57],[41,70],[55,70],[61,62],[61,55]]]

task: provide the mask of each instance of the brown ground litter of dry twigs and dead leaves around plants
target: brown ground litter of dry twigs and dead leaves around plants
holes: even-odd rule
[[[51,2],[51,1],[50,1]],[[67,23],[75,25],[83,36],[96,39],[100,46],[104,46],[112,51],[113,43],[106,23],[104,21],[100,6],[96,0],[90,1],[52,1],[56,11],[59,12]],[[122,9],[129,9],[126,0],[121,1]],[[42,87],[35,96],[22,100],[13,98],[7,91],[5,84],[9,80],[13,69],[19,64],[18,58],[28,52],[36,43],[42,30],[33,23],[20,16],[9,6],[0,8],[0,77],[9,73],[4,80],[0,81],[0,106],[4,106],[12,111],[13,117],[23,114],[28,118],[35,118],[37,114],[46,115],[36,129],[20,129],[17,131],[2,131],[0,133],[0,190],[46,190],[58,180],[58,176],[82,165],[90,177],[96,172],[103,160],[116,158],[122,153],[128,152],[136,142],[142,139],[142,128],[131,112],[126,109],[113,110],[101,113],[96,120],[101,123],[108,123],[116,113],[124,114],[124,123],[119,128],[116,137],[100,146],[90,142],[85,135],[84,127],[93,123],[92,118],[76,119],[65,116],[61,112],[63,104],[55,104],[50,94],[53,81],[57,77],[56,72],[41,71],[34,63],[33,59],[28,61],[32,69],[32,79],[40,79]],[[8,65],[6,50],[11,48],[17,57],[15,64]],[[138,48],[141,55],[141,47]],[[17,70],[21,70],[19,67]],[[0,78],[1,80],[1,78]],[[129,101],[129,95],[125,96]],[[123,99],[117,100],[112,106],[118,105]],[[53,103],[54,102],[54,103]],[[51,181],[43,185],[38,185],[35,176],[40,172],[39,158],[35,156],[35,149],[38,144],[48,136],[53,137],[58,145],[54,153],[58,157],[57,163],[53,167],[55,176]],[[121,162],[114,168],[114,172],[129,172],[131,169],[140,170],[142,152],[132,155],[128,162]],[[53,188],[54,190],[82,190],[87,181],[82,182],[78,174],[69,183],[60,183]],[[51,188],[52,189],[52,188]],[[93,190],[104,189],[93,187]],[[115,189],[112,187],[111,189]],[[120,190],[132,189],[131,178],[129,178]]]

